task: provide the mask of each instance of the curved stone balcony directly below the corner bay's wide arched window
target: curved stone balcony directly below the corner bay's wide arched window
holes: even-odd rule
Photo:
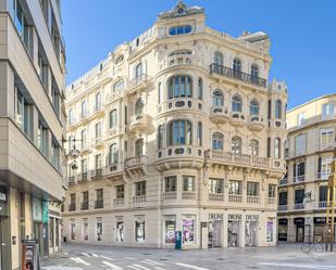
[[[178,98],[170,99],[163,104],[158,105],[158,112],[164,113],[167,111],[177,111],[177,110],[202,110],[202,101],[191,98]]]

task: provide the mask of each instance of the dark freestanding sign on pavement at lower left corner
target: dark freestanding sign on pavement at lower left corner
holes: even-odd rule
[[[38,244],[35,240],[22,241],[22,270],[39,269]]]

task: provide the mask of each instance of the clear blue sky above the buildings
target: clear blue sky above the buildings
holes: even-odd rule
[[[148,29],[176,0],[63,0],[67,82]],[[234,37],[262,30],[272,40],[270,79],[284,79],[288,107],[336,92],[336,1],[185,0],[206,9],[211,28]]]

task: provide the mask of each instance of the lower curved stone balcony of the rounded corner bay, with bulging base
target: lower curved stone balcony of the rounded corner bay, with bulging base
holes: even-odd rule
[[[155,165],[160,171],[177,168],[196,168],[203,166],[203,151],[191,145],[171,145],[158,151]]]

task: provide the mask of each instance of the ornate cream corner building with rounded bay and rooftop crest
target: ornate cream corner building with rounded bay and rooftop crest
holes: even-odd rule
[[[178,2],[71,83],[66,241],[275,245],[287,87],[271,62],[264,33],[233,38]]]

